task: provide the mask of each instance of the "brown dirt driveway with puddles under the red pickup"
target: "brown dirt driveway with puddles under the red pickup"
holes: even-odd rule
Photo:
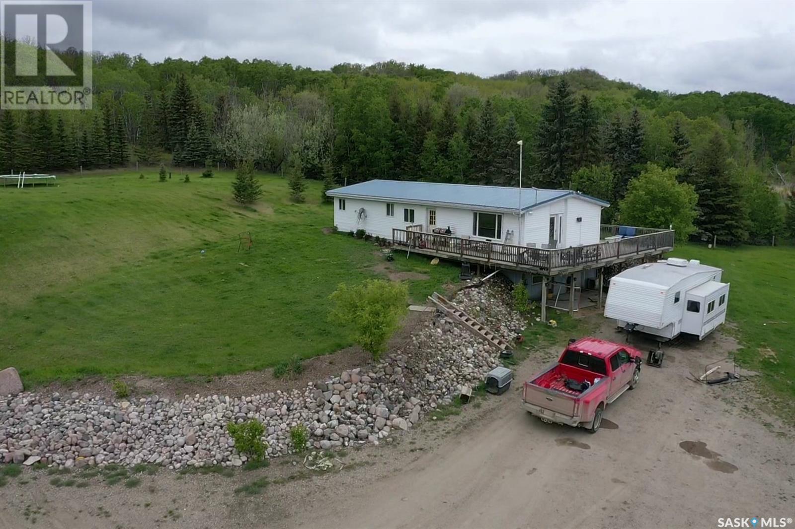
[[[599,321],[594,319],[594,321]],[[622,339],[609,325],[599,334]],[[548,425],[514,388],[343,456],[341,472],[299,477],[287,458],[234,477],[161,471],[138,488],[48,476],[0,488],[0,529],[17,527],[717,527],[719,517],[795,517],[793,432],[747,402],[750,383],[687,380],[725,356],[719,335],[669,347],[662,369],[607,408],[596,434]],[[763,424],[766,423],[766,424]],[[235,488],[266,478],[254,496]],[[18,480],[19,478],[17,478]],[[25,515],[25,509],[28,514]],[[39,509],[30,515],[31,509]],[[35,523],[32,518],[37,518]]]

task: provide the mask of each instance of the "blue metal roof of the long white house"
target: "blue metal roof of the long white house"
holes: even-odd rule
[[[519,188],[498,186],[475,186],[464,183],[407,182],[403,180],[370,180],[337,187],[327,195],[371,200],[394,200],[394,202],[420,204],[447,204],[451,207],[472,207],[489,210],[518,210]],[[541,204],[563,199],[567,196],[610,206],[603,200],[583,195],[578,191],[558,189],[522,188],[522,210],[530,210]]]

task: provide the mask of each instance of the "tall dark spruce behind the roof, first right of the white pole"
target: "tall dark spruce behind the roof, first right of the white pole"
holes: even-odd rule
[[[546,187],[568,187],[574,167],[573,113],[572,91],[566,79],[560,79],[549,92],[538,125],[538,176]]]

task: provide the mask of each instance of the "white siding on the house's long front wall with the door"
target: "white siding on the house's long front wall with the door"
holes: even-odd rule
[[[420,206],[417,204],[394,203],[394,217],[386,216],[386,201],[363,200],[363,199],[344,199],[345,210],[339,210],[339,197],[334,199],[334,225],[339,231],[365,230],[371,235],[392,238],[392,230],[405,230],[409,224],[421,224],[423,231],[429,231],[432,227],[450,227],[452,235],[455,237],[472,237],[472,212],[475,210],[460,209],[455,207],[432,207]],[[356,212],[364,208],[366,218],[357,221]],[[414,222],[403,220],[403,210],[414,210]],[[436,226],[428,224],[428,210],[436,210]],[[505,240],[507,230],[514,232],[512,244],[518,244],[518,216],[516,214],[504,213],[499,211],[477,210],[484,213],[502,214],[502,241]]]

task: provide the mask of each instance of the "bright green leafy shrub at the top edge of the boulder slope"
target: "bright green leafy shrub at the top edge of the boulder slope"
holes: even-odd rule
[[[387,280],[366,280],[355,287],[342,283],[330,299],[335,307],[329,319],[351,329],[353,341],[378,359],[406,313],[409,288]]]

